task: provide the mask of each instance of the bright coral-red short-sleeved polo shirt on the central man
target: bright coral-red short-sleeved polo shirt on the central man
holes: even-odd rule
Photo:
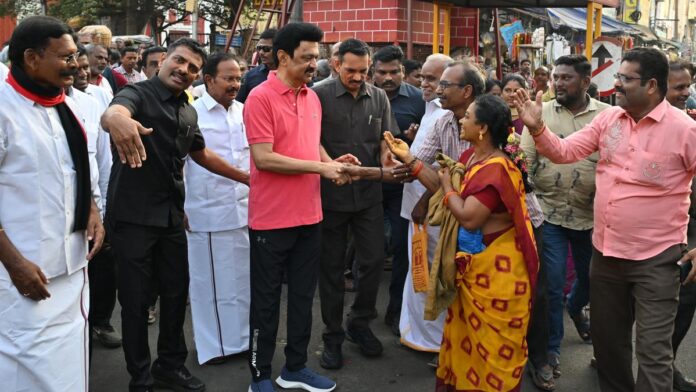
[[[249,144],[272,143],[273,151],[320,161],[321,104],[303,86],[299,94],[276,77],[254,88],[244,104]],[[322,219],[318,174],[280,174],[259,170],[251,160],[249,227],[273,230],[319,223]]]

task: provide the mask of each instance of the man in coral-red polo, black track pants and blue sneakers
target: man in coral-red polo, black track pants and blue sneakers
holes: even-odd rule
[[[319,178],[343,184],[344,163],[319,144],[321,104],[309,82],[316,70],[324,33],[307,23],[291,23],[276,34],[277,71],[249,94],[244,124],[251,147],[249,240],[251,245],[251,392],[274,391],[275,351],[283,270],[288,278],[286,362],[276,380],[283,388],[332,391],[336,383],[305,366],[312,330],[322,220]]]

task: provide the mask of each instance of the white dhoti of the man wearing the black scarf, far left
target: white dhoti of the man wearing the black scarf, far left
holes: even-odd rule
[[[0,390],[89,389],[87,269],[50,281],[51,297],[36,302],[0,274]]]

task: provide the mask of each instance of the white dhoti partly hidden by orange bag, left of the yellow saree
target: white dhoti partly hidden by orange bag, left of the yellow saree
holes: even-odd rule
[[[440,236],[440,226],[427,226],[428,230],[428,265],[432,266],[435,257],[435,247]],[[413,221],[408,226],[408,275],[404,284],[404,298],[401,305],[401,343],[418,351],[439,352],[442,343],[442,330],[445,326],[445,312],[437,320],[428,321],[423,318],[426,293],[413,291],[411,274]]]

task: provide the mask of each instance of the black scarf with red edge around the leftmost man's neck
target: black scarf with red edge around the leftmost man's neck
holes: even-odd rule
[[[87,228],[92,206],[87,135],[82,124],[65,103],[65,91],[58,87],[43,87],[31,80],[20,67],[12,65],[7,82],[22,96],[45,107],[55,107],[60,124],[68,139],[68,147],[77,173],[77,197],[75,198],[75,224],[73,231]]]

